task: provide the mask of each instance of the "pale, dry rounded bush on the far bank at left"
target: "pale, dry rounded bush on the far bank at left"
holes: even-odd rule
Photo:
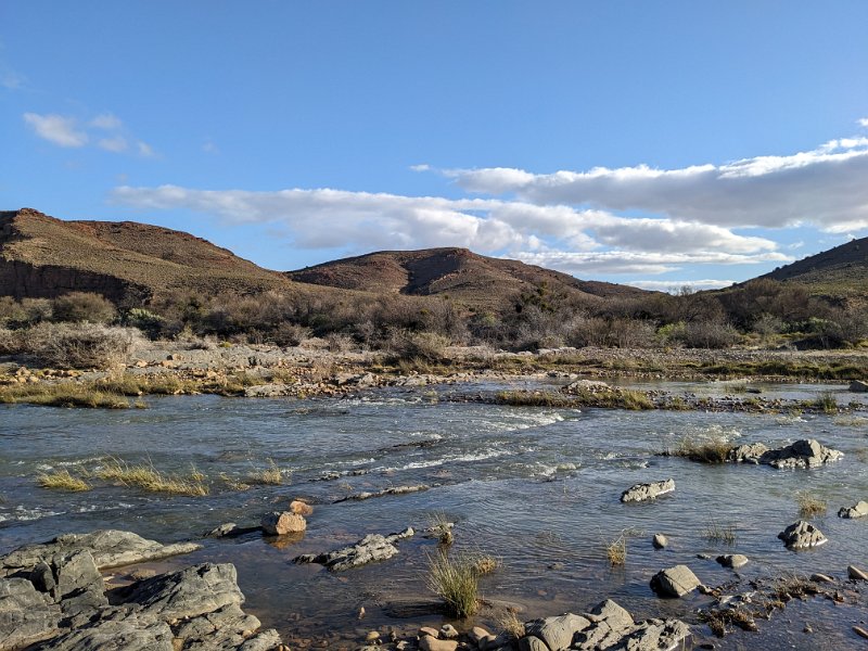
[[[64,369],[105,369],[123,362],[140,337],[138,330],[94,323],[40,323],[25,335],[26,352]]]

